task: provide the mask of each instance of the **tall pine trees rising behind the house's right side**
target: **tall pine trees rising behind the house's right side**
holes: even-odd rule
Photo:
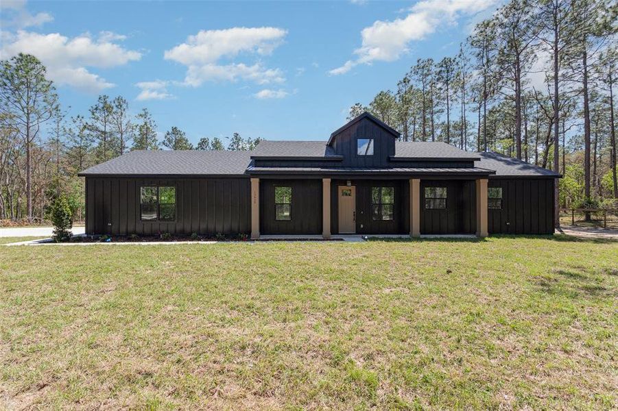
[[[615,1],[510,0],[456,55],[418,59],[394,90],[356,103],[349,118],[368,110],[404,141],[558,171],[560,206],[615,203],[617,22]]]

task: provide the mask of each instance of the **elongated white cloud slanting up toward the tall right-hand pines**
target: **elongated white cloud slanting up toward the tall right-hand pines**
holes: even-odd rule
[[[461,16],[486,10],[495,0],[424,0],[414,4],[404,18],[375,21],[361,31],[361,47],[354,51],[355,60],[329,71],[331,75],[347,73],[358,64],[375,61],[392,62],[407,53],[409,43],[423,40],[444,25],[455,23]]]

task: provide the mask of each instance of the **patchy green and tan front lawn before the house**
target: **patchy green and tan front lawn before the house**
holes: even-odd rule
[[[618,242],[0,253],[0,404],[9,409],[610,409],[618,401]]]

